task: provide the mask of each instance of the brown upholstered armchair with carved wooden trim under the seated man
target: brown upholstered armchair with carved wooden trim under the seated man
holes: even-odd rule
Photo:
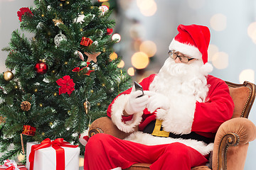
[[[215,135],[214,147],[209,159],[209,166],[193,167],[193,170],[238,170],[245,166],[249,142],[256,138],[256,127],[248,120],[252,103],[255,100],[255,84],[245,81],[244,84],[233,84],[226,81],[230,96],[235,103],[233,118],[226,121]],[[120,131],[108,117],[95,120],[90,125],[89,137],[96,133],[107,133],[124,139],[129,134]],[[134,164],[129,170],[146,170],[150,164]]]

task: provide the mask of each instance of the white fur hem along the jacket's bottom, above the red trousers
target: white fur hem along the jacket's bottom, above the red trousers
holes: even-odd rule
[[[150,135],[144,132],[133,132],[124,140],[129,140],[129,141],[141,143],[144,145],[163,145],[163,144],[170,144],[174,142],[180,142],[188,147],[192,147],[193,149],[196,149],[198,152],[200,152],[203,155],[207,155],[211,151],[213,151],[213,143],[210,143],[207,145],[205,142],[197,141],[197,140],[184,140],[181,138],[174,139],[171,137],[155,137],[153,135]]]

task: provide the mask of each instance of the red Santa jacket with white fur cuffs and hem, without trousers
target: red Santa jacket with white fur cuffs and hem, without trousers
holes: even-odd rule
[[[140,83],[144,91],[149,91],[149,86],[154,80],[154,77],[156,77],[156,74],[152,74],[146,79],[143,79]],[[230,97],[228,85],[225,84],[225,81],[208,75],[207,83],[209,91],[205,102],[197,101],[194,107],[186,108],[187,103],[186,99],[184,99],[184,112],[180,111],[183,109],[180,106],[174,105],[174,109],[170,109],[171,111],[178,110],[178,113],[170,113],[172,116],[171,120],[169,120],[168,124],[164,127],[164,130],[171,132],[174,135],[181,135],[178,136],[178,138],[159,138],[142,133],[149,123],[156,120],[156,116],[158,115],[157,111],[149,113],[149,111],[145,109],[143,113],[135,113],[128,117],[122,115],[124,105],[127,103],[126,95],[129,94],[132,89],[124,91],[122,94],[119,94],[114,101],[112,101],[107,109],[107,115],[112,118],[112,121],[117,125],[117,128],[124,132],[133,132],[135,126],[139,125],[139,130],[142,132],[134,132],[134,134],[130,135],[127,140],[139,142],[145,145],[181,142],[193,147],[201,154],[206,155],[213,149],[213,145],[208,143],[213,141],[218,127],[232,117],[234,108],[233,100]],[[174,103],[175,102],[176,101],[174,101]],[[191,132],[194,132],[191,135],[192,139],[186,137],[188,134],[191,134]],[[203,140],[198,142],[198,140],[200,140],[200,136],[202,136],[201,139]],[[207,140],[208,142],[206,142]]]

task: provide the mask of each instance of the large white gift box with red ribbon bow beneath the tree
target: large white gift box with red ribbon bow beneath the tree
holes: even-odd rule
[[[28,170],[78,170],[80,148],[64,142],[43,140],[41,144],[28,142],[26,145],[26,167]]]

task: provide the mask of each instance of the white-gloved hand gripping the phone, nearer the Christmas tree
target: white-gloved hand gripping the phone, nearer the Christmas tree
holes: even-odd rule
[[[137,96],[142,95],[142,91],[135,91],[135,87],[132,87],[132,92],[129,94],[129,99],[126,105],[124,106],[124,111],[128,115],[132,115],[134,113],[139,113],[144,111],[146,108],[146,103],[149,102],[149,96],[144,95],[139,98]]]

